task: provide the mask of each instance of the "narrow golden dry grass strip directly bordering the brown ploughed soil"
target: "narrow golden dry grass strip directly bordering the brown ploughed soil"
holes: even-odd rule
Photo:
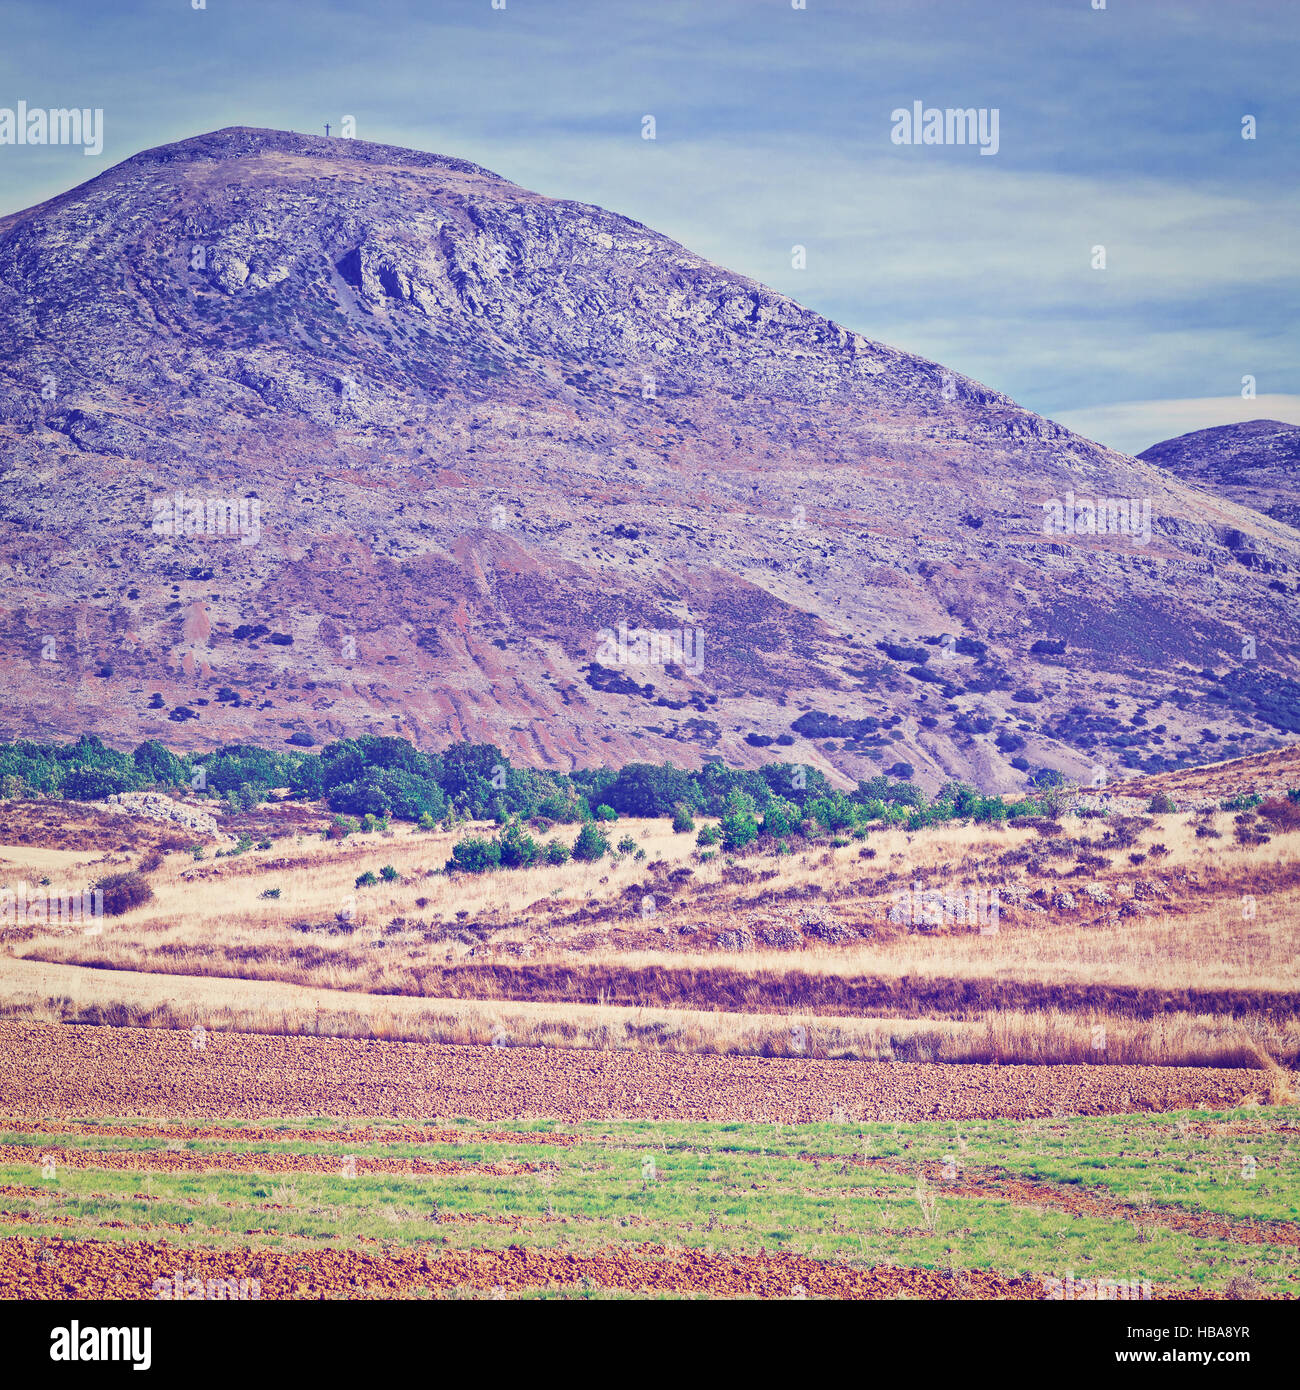
[[[421,999],[28,960],[0,960],[0,999],[7,1017],[239,1033],[919,1062],[1251,1066],[1268,1074],[1267,1087],[1281,1074],[1274,1058],[1300,1056],[1297,1020],[1257,1024],[1186,1012],[1141,1020],[1059,1009],[870,1019]]]

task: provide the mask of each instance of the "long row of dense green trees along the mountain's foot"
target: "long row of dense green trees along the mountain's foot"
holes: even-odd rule
[[[844,792],[801,763],[742,770],[710,760],[698,771],[670,763],[539,771],[513,766],[494,744],[453,744],[434,753],[373,734],[338,739],[318,753],[252,744],[175,753],[157,739],[122,752],[93,734],[72,744],[0,745],[0,795],[95,801],[149,787],[224,796],[236,808],[286,787],[293,796],[325,801],[341,816],[424,826],[452,817],[585,826],[619,815],[708,816],[724,823],[727,848],[740,848],[761,831],[797,834],[799,826],[831,833],[872,821],[919,828],[952,819],[1005,820],[1033,815],[1040,805],[1032,798],[1008,805],[959,783],[927,799],[913,783],[890,777],[872,777]]]

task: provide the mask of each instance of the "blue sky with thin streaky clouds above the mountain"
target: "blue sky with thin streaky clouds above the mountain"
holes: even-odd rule
[[[189,135],[350,115],[1112,448],[1300,423],[1300,0],[799,3],[6,0],[0,108],[101,108],[104,143],[0,145],[0,214]],[[996,111],[996,153],[897,143],[918,101]]]

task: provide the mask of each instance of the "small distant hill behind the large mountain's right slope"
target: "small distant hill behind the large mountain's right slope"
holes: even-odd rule
[[[1137,457],[1300,528],[1300,425],[1247,420],[1193,430]]]

